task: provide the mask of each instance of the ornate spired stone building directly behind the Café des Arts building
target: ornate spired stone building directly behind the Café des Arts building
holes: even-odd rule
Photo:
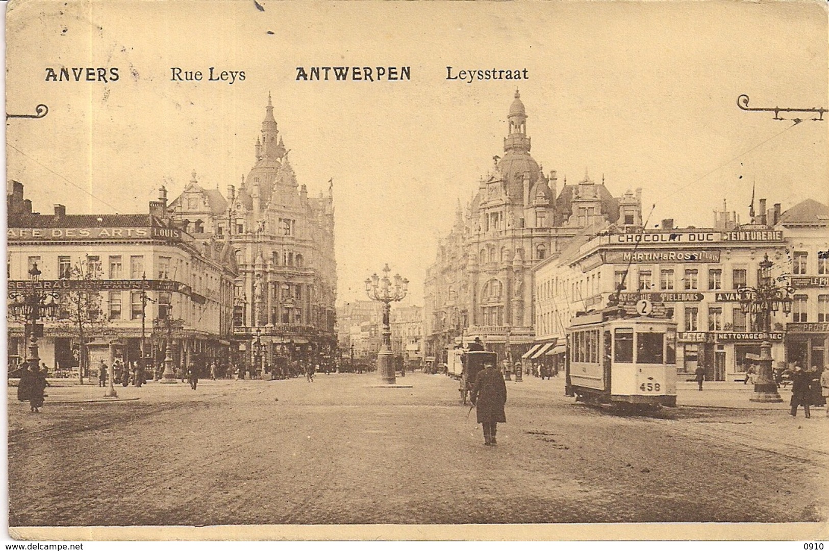
[[[235,251],[237,361],[253,361],[257,348],[262,354],[256,361],[268,364],[278,355],[318,360],[332,352],[337,345],[333,183],[316,197],[298,184],[270,96],[254,166],[238,189],[227,186],[225,198],[199,186],[194,172],[171,209],[196,239],[230,241]]]

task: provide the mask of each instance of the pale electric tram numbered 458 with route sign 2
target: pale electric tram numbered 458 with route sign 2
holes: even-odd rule
[[[646,309],[647,311],[647,309]],[[565,333],[566,394],[594,404],[676,406],[676,323],[621,307],[577,316]]]

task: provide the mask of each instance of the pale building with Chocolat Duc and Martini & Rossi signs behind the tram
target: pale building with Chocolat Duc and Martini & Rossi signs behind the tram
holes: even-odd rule
[[[781,213],[779,204],[767,211],[764,203],[762,214],[749,225],[737,225],[736,216],[724,208],[715,213],[713,228],[674,229],[670,220],[663,220],[660,230],[608,226],[540,263],[536,266],[537,340],[563,342],[565,327],[576,312],[605,307],[620,290],[621,304],[633,306],[647,298],[654,304],[653,315],[676,321],[680,375],[690,377],[697,365],[703,365],[706,379],[743,380],[751,359],[759,357],[763,333],[742,311],[738,289],[758,284],[759,263],[768,254],[773,278],[798,289],[793,314],[788,318],[783,312],[773,314],[774,366],[794,360],[801,365],[825,361],[825,334],[817,335],[821,326],[807,323],[817,321],[820,312],[827,319],[820,305],[821,297],[829,296],[820,291],[817,273],[822,269],[818,251],[827,246],[826,230],[819,236],[813,215],[819,209],[815,205],[803,209],[801,204]],[[825,211],[825,205],[822,208]],[[804,215],[804,210],[811,215]],[[803,232],[798,241],[792,226],[802,219],[811,223],[798,226]],[[797,265],[797,259],[804,260]],[[804,282],[814,287],[803,290]],[[792,341],[801,343],[797,352],[789,344]]]

